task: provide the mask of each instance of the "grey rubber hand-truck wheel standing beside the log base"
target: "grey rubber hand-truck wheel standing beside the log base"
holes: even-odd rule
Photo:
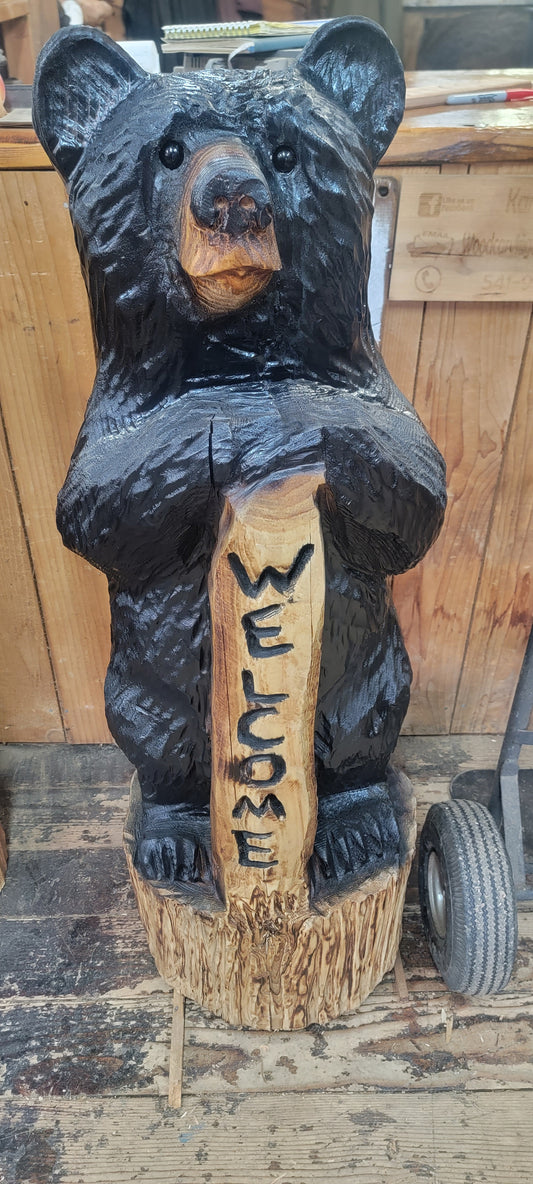
[[[516,901],[509,858],[486,806],[431,806],[420,835],[418,889],[431,957],[450,991],[502,991],[516,957]]]

